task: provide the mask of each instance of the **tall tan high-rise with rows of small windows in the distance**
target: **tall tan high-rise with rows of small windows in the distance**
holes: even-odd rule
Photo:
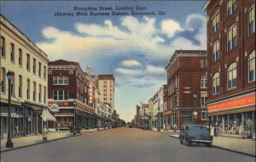
[[[98,75],[96,85],[101,93],[101,101],[110,104],[114,109],[114,76]]]

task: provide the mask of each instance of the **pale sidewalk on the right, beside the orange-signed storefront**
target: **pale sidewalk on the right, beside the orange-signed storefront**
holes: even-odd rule
[[[170,137],[178,138],[178,134],[171,134]],[[255,141],[253,139],[213,137],[212,146],[255,157]]]

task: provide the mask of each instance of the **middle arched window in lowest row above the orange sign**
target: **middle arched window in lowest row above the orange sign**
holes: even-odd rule
[[[236,63],[232,63],[228,67],[228,89],[236,87],[236,82]]]

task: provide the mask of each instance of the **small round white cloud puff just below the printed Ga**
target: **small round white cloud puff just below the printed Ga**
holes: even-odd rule
[[[172,37],[177,31],[183,31],[179,23],[175,20],[162,20],[161,30],[168,37]]]

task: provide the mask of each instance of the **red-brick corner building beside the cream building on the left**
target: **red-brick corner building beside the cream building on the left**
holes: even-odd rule
[[[79,63],[66,60],[49,62],[48,104],[61,130],[71,126],[96,128],[95,88],[90,75]]]

